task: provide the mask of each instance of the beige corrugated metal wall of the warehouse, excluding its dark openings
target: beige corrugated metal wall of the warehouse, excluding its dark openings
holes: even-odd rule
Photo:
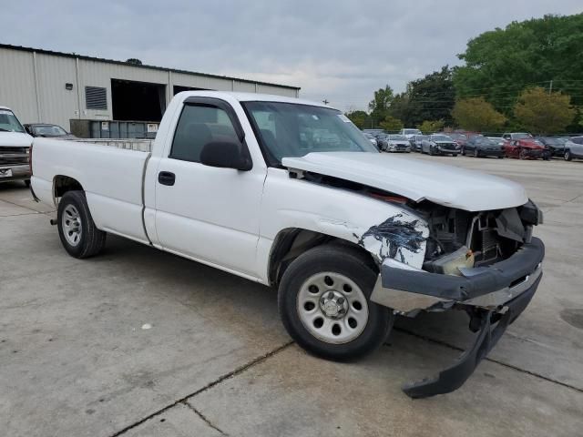
[[[111,120],[111,79],[164,85],[167,105],[175,85],[298,97],[290,87],[0,47],[0,105],[12,108],[22,123],[55,123],[70,130],[70,119]],[[87,109],[85,86],[107,88],[107,109]]]

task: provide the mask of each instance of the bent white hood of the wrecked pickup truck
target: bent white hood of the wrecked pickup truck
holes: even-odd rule
[[[415,202],[429,200],[466,211],[513,208],[527,203],[515,182],[415,158],[367,152],[314,152],[283,158],[284,167],[380,188]]]

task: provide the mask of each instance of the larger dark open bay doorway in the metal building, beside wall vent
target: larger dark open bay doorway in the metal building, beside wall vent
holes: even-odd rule
[[[111,79],[113,119],[160,121],[166,110],[166,86]]]

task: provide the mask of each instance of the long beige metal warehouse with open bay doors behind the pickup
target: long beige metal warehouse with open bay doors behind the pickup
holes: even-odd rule
[[[153,137],[170,99],[212,89],[299,97],[300,88],[0,44],[0,105],[80,137]]]

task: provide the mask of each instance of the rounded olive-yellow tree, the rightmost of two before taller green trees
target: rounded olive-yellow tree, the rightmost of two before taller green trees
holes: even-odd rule
[[[576,114],[575,108],[571,107],[571,97],[547,93],[538,86],[526,89],[514,107],[517,121],[535,134],[563,132]]]

